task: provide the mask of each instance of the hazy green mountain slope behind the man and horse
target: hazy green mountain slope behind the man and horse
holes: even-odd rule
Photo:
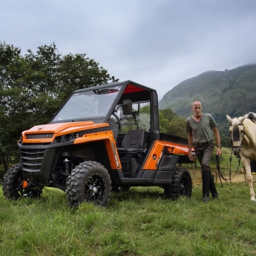
[[[165,94],[159,108],[171,108],[178,116],[187,118],[194,99],[200,99],[203,112],[211,113],[220,130],[227,131],[226,114],[233,118],[256,112],[256,64],[207,71],[184,80]]]

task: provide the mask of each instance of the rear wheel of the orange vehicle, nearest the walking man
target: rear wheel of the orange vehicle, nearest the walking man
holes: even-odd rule
[[[187,169],[176,168],[171,184],[164,187],[165,195],[172,200],[176,200],[181,195],[191,197],[192,194],[192,178]]]

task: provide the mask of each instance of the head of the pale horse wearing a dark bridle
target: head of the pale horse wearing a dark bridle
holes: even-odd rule
[[[226,115],[227,116],[227,115]],[[240,157],[241,148],[243,146],[244,138],[244,124],[245,116],[239,118],[230,118],[227,116],[227,121],[230,122],[230,139],[233,145],[233,152],[236,157]]]

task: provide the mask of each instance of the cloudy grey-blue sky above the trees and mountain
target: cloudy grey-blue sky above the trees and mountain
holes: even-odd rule
[[[208,70],[256,63],[255,0],[0,0],[0,41],[86,53],[159,100]]]

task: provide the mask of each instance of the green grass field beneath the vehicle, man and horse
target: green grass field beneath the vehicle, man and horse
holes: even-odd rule
[[[246,183],[217,185],[219,199],[171,201],[158,187],[112,193],[108,206],[69,208],[65,193],[5,200],[0,192],[0,255],[255,255],[256,203]]]

